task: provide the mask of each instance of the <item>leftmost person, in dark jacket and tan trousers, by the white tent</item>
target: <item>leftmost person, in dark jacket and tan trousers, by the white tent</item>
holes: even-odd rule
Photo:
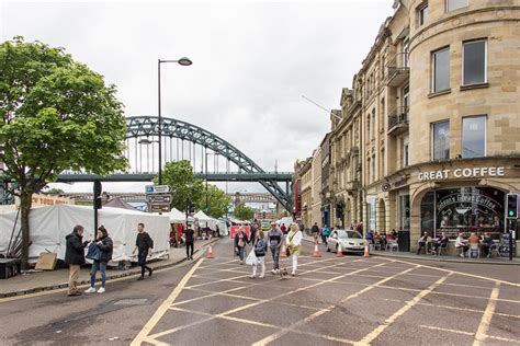
[[[84,264],[84,247],[92,241],[89,239],[83,240],[84,228],[81,224],[74,227],[72,233],[65,237],[66,250],[65,250],[65,264],[69,265],[69,290],[67,296],[81,296],[78,290],[78,278],[81,265]]]

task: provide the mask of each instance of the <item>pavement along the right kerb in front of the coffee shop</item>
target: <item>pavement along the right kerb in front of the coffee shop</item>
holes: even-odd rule
[[[310,243],[314,242],[314,238],[304,234],[303,239]],[[321,244],[321,240],[319,241]],[[455,262],[455,263],[473,263],[473,264],[498,264],[498,265],[520,265],[520,258],[513,257],[509,261],[508,257],[493,257],[493,258],[462,258],[459,256],[433,256],[433,255],[417,255],[412,252],[396,252],[396,251],[372,251],[371,256],[383,256],[393,258],[404,260],[419,260],[419,261],[436,261],[436,262]]]

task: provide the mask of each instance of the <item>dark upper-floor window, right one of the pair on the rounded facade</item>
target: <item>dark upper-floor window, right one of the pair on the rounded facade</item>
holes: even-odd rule
[[[486,39],[465,42],[463,44],[463,85],[486,82]]]

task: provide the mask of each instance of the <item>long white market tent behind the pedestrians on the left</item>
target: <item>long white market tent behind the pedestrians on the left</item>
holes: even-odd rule
[[[145,230],[154,240],[154,250],[149,260],[169,254],[170,220],[167,216],[151,215],[137,210],[105,208],[98,211],[98,223],[103,224],[114,243],[113,262],[137,261],[132,252],[137,235],[137,223],[143,222]],[[0,253],[5,252],[16,219],[16,211],[0,214]],[[76,224],[84,227],[83,239],[94,238],[92,207],[75,205],[55,205],[32,209],[30,212],[31,241],[30,263],[35,263],[42,252],[53,252],[58,260],[65,258],[65,237],[72,232]],[[16,222],[14,237],[20,230]]]

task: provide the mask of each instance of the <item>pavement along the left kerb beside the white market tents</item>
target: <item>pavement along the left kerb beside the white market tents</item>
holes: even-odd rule
[[[195,243],[194,252],[199,252],[199,250],[203,249],[204,246],[208,245],[210,243],[214,243],[218,241],[218,239],[212,240],[200,240]],[[167,260],[154,261],[148,263],[154,269],[160,269],[166,267],[174,266],[185,260],[185,247],[170,247],[170,257]],[[106,281],[110,282],[111,279],[126,277],[131,275],[140,274],[139,266],[133,266],[128,270],[118,270],[116,268],[111,269],[110,267],[106,268]],[[100,274],[98,274],[98,281],[101,280]],[[30,273],[24,275],[18,275],[9,279],[0,280],[0,299],[12,297],[12,296],[21,296],[27,293],[34,293],[37,291],[43,290],[53,290],[53,289],[60,289],[67,288],[69,281],[69,269],[68,268],[60,268],[52,272],[37,272],[37,273]],[[90,284],[90,267],[83,266],[81,267],[81,272],[79,275],[78,285],[86,285]]]

